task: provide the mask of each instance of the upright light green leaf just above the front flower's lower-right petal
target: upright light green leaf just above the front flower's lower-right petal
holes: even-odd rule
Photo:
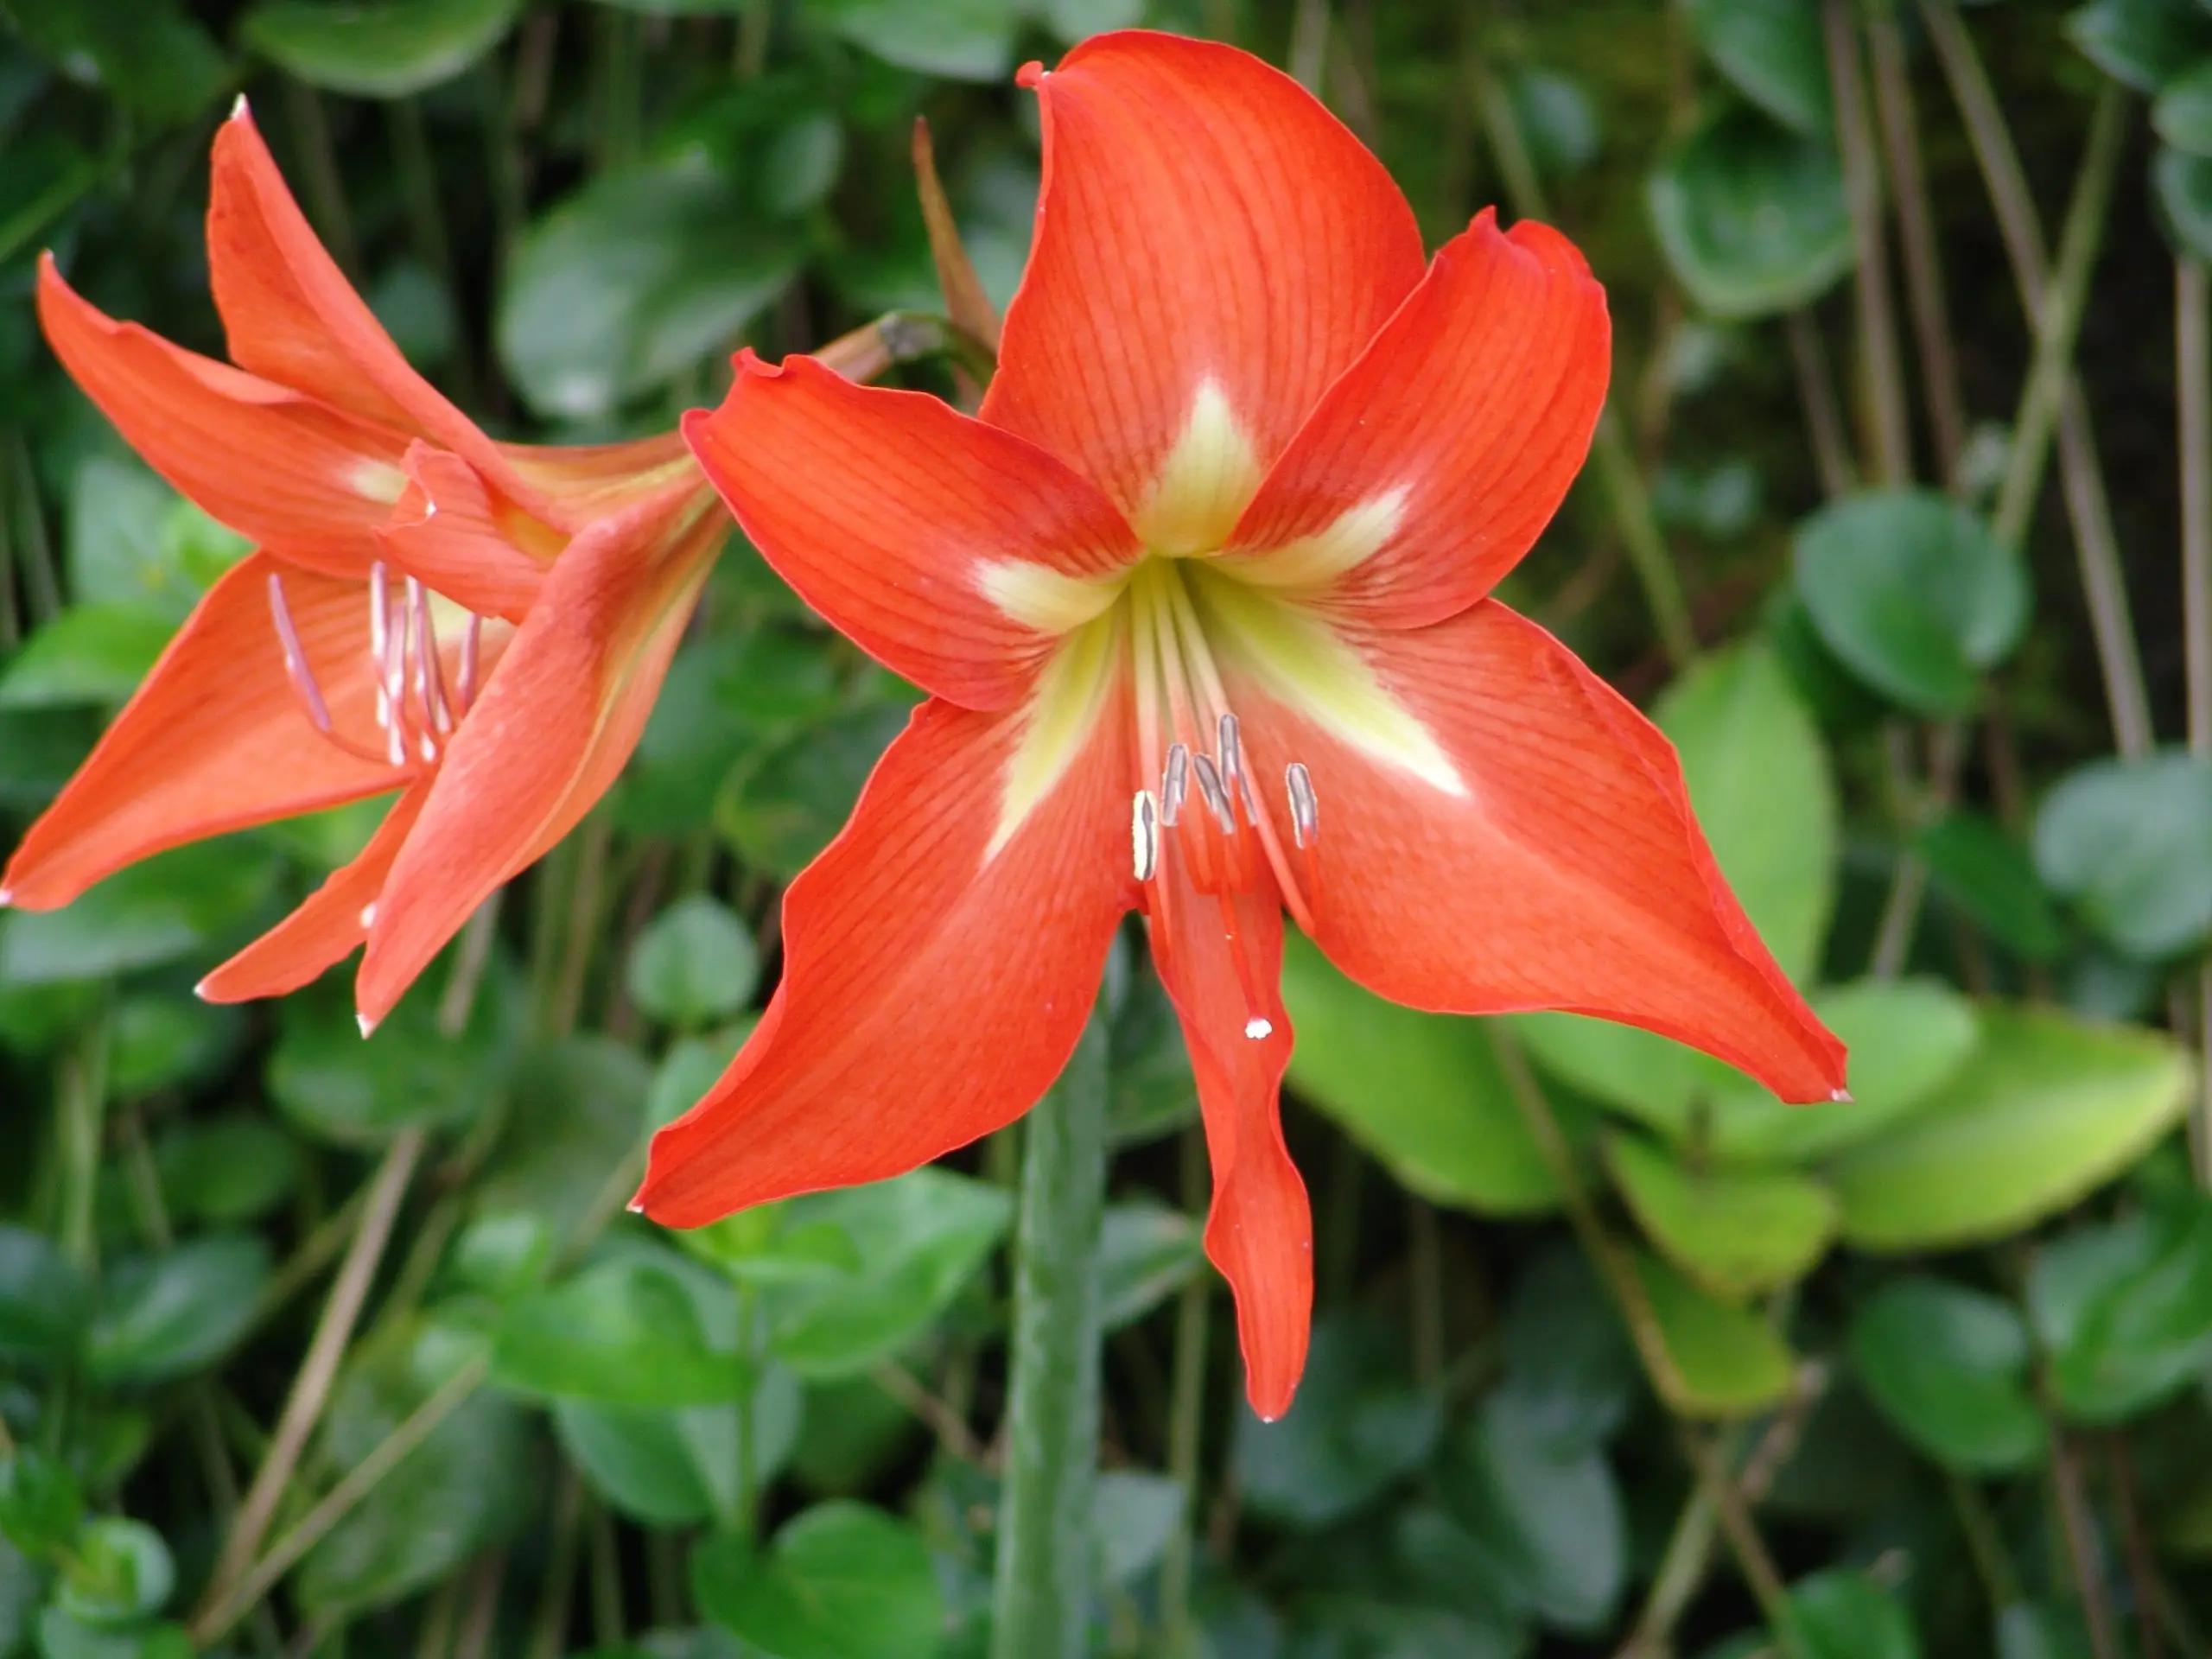
[[[1668,686],[1652,721],[1759,938],[1783,973],[1809,978],[1836,905],[1836,779],[1790,675],[1761,644],[1714,653]]]

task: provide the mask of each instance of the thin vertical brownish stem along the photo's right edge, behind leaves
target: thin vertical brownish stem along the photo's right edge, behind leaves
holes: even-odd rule
[[[2174,261],[2174,356],[2181,447],[2181,659],[2190,754],[2212,763],[2212,281]],[[2212,964],[2197,969],[2197,1179],[2212,1188]]]

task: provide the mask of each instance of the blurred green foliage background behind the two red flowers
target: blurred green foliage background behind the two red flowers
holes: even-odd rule
[[[0,834],[243,553],[29,307],[53,248],[219,352],[197,215],[237,93],[414,361],[564,442],[668,427],[741,343],[936,310],[916,115],[1004,303],[1037,190],[1009,75],[1093,29],[1287,62],[1431,237],[1542,204],[1621,345],[1604,487],[1506,597],[1677,743],[1854,1102],[1785,1108],[1575,1015],[1396,1009],[1292,938],[1321,1310],[1261,1425],[1133,938],[1095,1650],[2205,1652],[2212,1199],[2181,1126],[2212,1013],[2212,641],[2185,633],[2212,571],[2183,597],[2177,480],[2212,489],[2212,456],[2168,411],[2174,330],[2205,338],[2174,261],[2212,257],[2212,7],[0,20]],[[2099,95],[2128,100],[2104,195],[2075,177]],[[2046,270],[2075,239],[2101,259]],[[2066,281],[2079,341],[2044,303]],[[2039,338],[2079,385],[2044,416]],[[2046,416],[2048,467],[2013,442]],[[1652,549],[1697,661],[1630,580]],[[248,1011],[190,984],[374,812],[0,918],[0,1655],[984,1652],[1011,1141],[695,1234],[622,1214],[909,701],[734,544],[617,792],[367,1044],[336,975]]]

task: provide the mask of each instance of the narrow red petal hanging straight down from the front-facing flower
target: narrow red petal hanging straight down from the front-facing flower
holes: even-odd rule
[[[1177,836],[1164,838],[1159,887],[1166,905],[1155,898],[1152,962],[1183,1022],[1206,1115],[1206,1155],[1214,1166],[1206,1254],[1237,1294],[1245,1396],[1272,1422],[1290,1411],[1298,1389],[1314,1312],[1314,1217],[1298,1166],[1283,1146],[1281,1119],[1283,1066],[1290,1064],[1290,1015],[1281,998],[1283,907],[1265,874],[1259,887],[1232,900],[1259,991],[1259,1006],[1252,1006],[1221,898],[1190,885]],[[1245,1035],[1254,1015],[1270,1026],[1261,1037]]]

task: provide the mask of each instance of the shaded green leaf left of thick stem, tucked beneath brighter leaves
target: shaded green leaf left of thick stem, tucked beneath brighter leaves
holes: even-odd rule
[[[752,1398],[739,1405],[653,1411],[555,1400],[553,1429],[577,1469],[608,1504],[648,1526],[741,1526],[741,1462],[754,1491],[774,1480],[799,1444],[805,1394],[785,1367],[759,1369]],[[739,1458],[750,1413],[752,1442]]]

